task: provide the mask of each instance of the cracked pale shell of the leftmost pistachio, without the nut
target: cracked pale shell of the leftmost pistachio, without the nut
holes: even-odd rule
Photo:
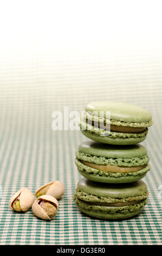
[[[11,210],[14,210],[13,203],[17,197],[20,196],[20,208],[22,211],[28,211],[30,207],[32,207],[32,204],[34,203],[34,194],[28,190],[27,187],[22,187],[20,190],[18,190],[13,197],[10,198],[9,201],[9,208]]]

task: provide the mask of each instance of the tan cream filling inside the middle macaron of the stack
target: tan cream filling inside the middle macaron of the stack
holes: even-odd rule
[[[103,170],[103,172],[113,172],[113,173],[137,172],[138,170],[143,169],[147,165],[145,164],[144,166],[120,167],[120,166],[111,166],[110,164],[107,164],[104,166],[102,164],[90,163],[82,160],[80,161],[84,163],[86,166],[89,166],[98,170]]]

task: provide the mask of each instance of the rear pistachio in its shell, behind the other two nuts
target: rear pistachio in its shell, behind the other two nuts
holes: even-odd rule
[[[63,182],[56,180],[41,186],[35,192],[35,196],[39,197],[39,196],[42,196],[43,194],[49,194],[56,199],[60,199],[64,193],[65,193],[65,186]]]

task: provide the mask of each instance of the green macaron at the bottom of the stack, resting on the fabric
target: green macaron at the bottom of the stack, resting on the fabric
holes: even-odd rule
[[[130,184],[104,184],[83,178],[78,182],[73,200],[86,215],[122,220],[140,214],[147,197],[147,185],[141,180]]]

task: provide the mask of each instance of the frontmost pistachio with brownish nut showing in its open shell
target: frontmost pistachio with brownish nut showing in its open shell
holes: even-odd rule
[[[33,214],[43,220],[51,220],[57,215],[58,209],[58,200],[49,194],[38,197],[32,205]]]

